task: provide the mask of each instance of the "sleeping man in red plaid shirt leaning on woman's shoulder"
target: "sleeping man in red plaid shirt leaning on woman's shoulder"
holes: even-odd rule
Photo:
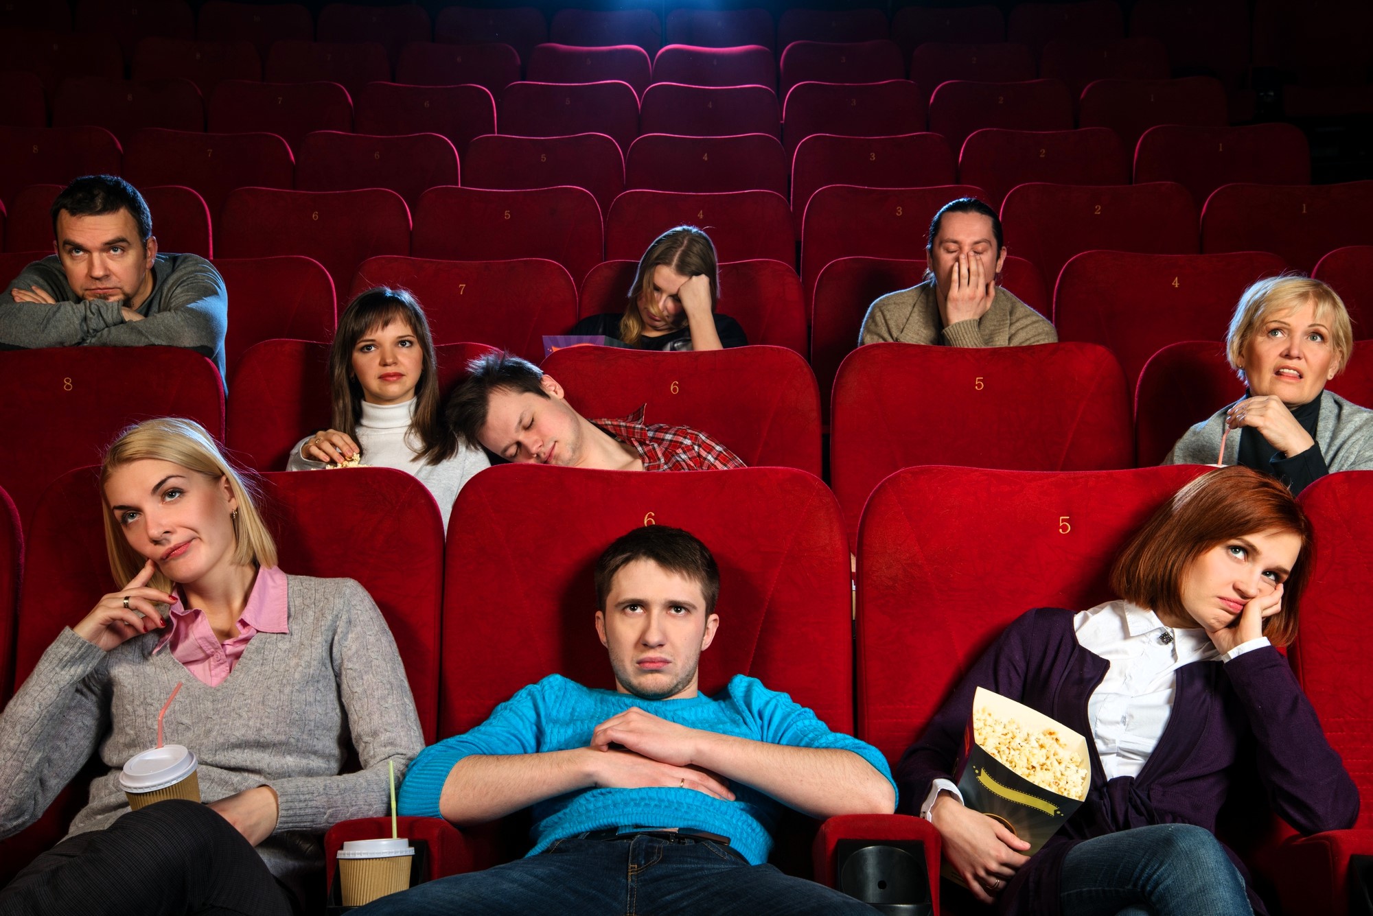
[[[461,439],[507,461],[600,470],[722,470],[744,462],[691,426],[629,417],[586,420],[563,387],[508,352],[468,363],[471,377],[448,403],[448,424]]]

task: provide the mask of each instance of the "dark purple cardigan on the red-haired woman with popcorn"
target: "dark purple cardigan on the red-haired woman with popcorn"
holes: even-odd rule
[[[931,783],[951,779],[978,687],[1092,734],[1087,699],[1109,664],[1078,644],[1072,617],[1074,612],[1060,607],[1027,612],[983,653],[897,764],[899,810],[919,816]],[[1170,823],[1214,832],[1236,762],[1256,764],[1273,809],[1302,834],[1347,828],[1358,819],[1358,788],[1276,649],[1179,668],[1173,714],[1138,776],[1108,783],[1096,746],[1090,740],[1087,746],[1092,788],[1086,801],[1011,880],[998,900],[1000,913],[1059,913],[1063,858],[1083,839]],[[1230,858],[1247,873],[1233,853]],[[1252,886],[1249,901],[1255,913],[1267,912]]]

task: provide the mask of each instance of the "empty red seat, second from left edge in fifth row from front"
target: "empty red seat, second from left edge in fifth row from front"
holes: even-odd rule
[[[194,188],[210,214],[218,217],[224,199],[235,188],[290,188],[295,165],[286,141],[270,133],[146,128],[124,147],[124,177],[135,188]]]

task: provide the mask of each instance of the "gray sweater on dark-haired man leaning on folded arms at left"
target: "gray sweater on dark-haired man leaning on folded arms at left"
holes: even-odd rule
[[[11,291],[38,287],[55,304],[15,302]],[[139,307],[143,321],[125,321],[119,303],[77,300],[56,255],[34,261],[0,292],[0,350],[38,347],[185,347],[214,362],[224,378],[224,332],[229,298],[224,280],[199,255],[158,255],[152,292]]]

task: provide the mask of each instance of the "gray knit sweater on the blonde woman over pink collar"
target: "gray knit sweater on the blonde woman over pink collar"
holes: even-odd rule
[[[157,745],[199,761],[206,802],[270,786],[280,819],[258,853],[302,889],[324,865],[321,835],[390,808],[387,761],[400,782],[424,746],[395,642],[372,596],[351,579],[287,577],[290,634],[259,632],[218,687],[191,675],[158,632],[102,651],[70,628],[48,647],[0,714],[0,838],[38,819],[92,754],[108,772],[69,835],[108,827],[129,805],[118,778]],[[356,749],[362,769],[341,775]]]

